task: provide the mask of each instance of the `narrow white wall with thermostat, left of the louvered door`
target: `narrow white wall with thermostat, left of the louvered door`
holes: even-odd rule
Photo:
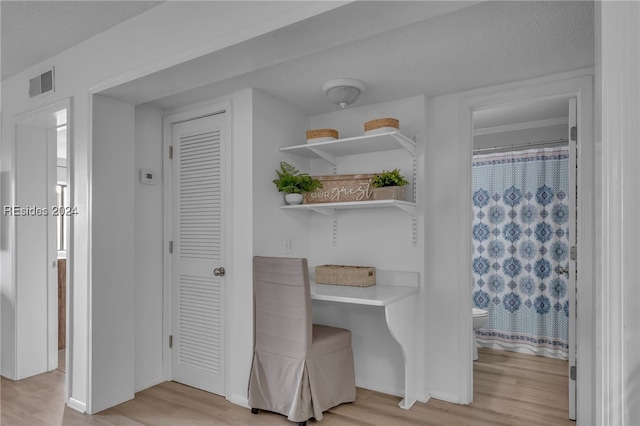
[[[135,109],[135,390],[164,381],[162,111]],[[156,174],[155,185],[140,183],[140,169]]]

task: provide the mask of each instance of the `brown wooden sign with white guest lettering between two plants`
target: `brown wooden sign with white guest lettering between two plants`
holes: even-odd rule
[[[305,204],[339,203],[345,201],[367,201],[373,193],[370,175],[313,176],[322,182],[322,188],[304,194]]]

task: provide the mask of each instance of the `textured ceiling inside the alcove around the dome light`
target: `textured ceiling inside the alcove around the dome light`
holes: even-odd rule
[[[405,13],[415,9],[416,16],[420,16],[423,3],[434,2],[402,2],[396,7],[406,9]],[[357,2],[332,13],[352,15],[352,25],[357,25],[362,15],[360,8],[365,7],[370,6]],[[324,25],[325,31],[339,31],[330,17],[325,14],[314,19],[316,25]],[[385,22],[384,15],[379,20]],[[267,46],[253,46],[254,41],[250,41],[217,52],[200,67],[180,68],[171,77],[167,70],[162,76],[164,81],[179,85],[180,81],[198,81],[198,73],[207,70],[209,84],[159,97],[153,104],[172,108],[254,87],[314,115],[336,108],[326,99],[321,86],[339,77],[357,78],[366,85],[354,106],[419,94],[453,93],[592,67],[594,28],[591,1],[482,2],[296,57],[285,57],[290,51],[288,43],[295,39],[285,28],[281,34],[287,37],[270,35],[272,42],[281,44],[283,60],[234,72],[234,58],[259,57],[254,48],[264,51]],[[307,39],[313,36],[304,26],[296,31]],[[269,52],[278,54],[274,49]],[[213,65],[216,63],[225,66]],[[221,68],[225,68],[224,73],[219,73]],[[153,77],[139,86],[147,90],[144,100],[153,97]],[[160,94],[161,88],[157,89],[156,94]],[[127,93],[135,97],[136,88],[130,85]]]

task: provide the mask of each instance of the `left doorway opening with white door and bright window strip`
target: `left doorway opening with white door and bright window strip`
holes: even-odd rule
[[[72,200],[67,148],[71,101],[16,119],[12,229],[15,241],[16,379],[67,371]],[[63,198],[64,197],[64,198]],[[6,212],[5,212],[6,213]],[[68,383],[68,377],[67,377]],[[65,396],[66,398],[66,396]]]

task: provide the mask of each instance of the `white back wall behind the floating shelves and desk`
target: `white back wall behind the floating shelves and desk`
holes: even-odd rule
[[[333,221],[323,215],[310,214],[309,265],[342,264],[375,266],[381,270],[411,271],[420,274],[421,303],[424,306],[425,279],[424,221],[429,208],[424,197],[423,148],[426,136],[425,97],[416,96],[393,102],[362,107],[349,107],[335,112],[311,117],[309,129],[333,128],[341,138],[364,134],[366,121],[393,117],[400,120],[400,131],[409,138],[419,139],[417,157],[417,244],[412,242],[412,218],[399,209],[345,210],[337,216],[337,245],[333,245]],[[308,130],[308,129],[307,129]],[[301,134],[298,142],[304,143]],[[401,169],[409,181],[413,178],[413,159],[404,150],[343,157],[339,160],[337,174],[376,173],[382,170]],[[314,175],[333,174],[333,166],[324,160],[312,160]],[[408,190],[411,194],[413,186]],[[409,196],[411,198],[411,196]],[[376,307],[341,305],[314,302],[316,322],[352,331],[356,368],[356,384],[369,389],[401,395],[404,390],[404,362],[400,346],[391,337],[384,319],[384,310]],[[420,348],[419,359],[424,359],[425,322],[424,311],[416,318],[416,338]],[[423,365],[418,372],[418,398],[426,399]]]

